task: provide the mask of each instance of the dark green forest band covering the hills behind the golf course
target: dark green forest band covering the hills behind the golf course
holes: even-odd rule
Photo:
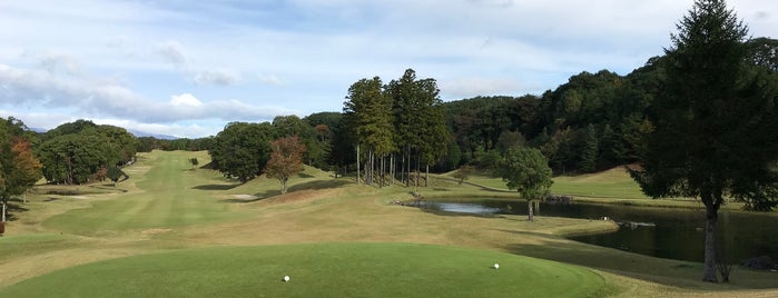
[[[769,73],[775,85],[778,40],[752,38],[745,46],[742,63]],[[200,139],[136,138],[88,120],[35,133],[12,117],[4,119],[0,137],[9,148],[14,140],[29,142],[50,183],[118,179],[124,173],[114,168],[151,150],[208,150],[213,162],[203,166],[245,182],[263,173],[270,142],[292,136],[306,148],[303,162],[337,175],[358,170],[371,185],[423,186],[425,172],[461,167],[489,171],[514,146],[540,149],[554,175],[585,173],[638,161],[641,136],[653,127],[647,115],[664,96],[666,60],[651,58],[626,76],[583,71],[542,95],[449,102],[441,100],[435,79],[416,78],[408,69],[386,83],[375,77],[344,87],[342,111],[230,122],[217,136]]]

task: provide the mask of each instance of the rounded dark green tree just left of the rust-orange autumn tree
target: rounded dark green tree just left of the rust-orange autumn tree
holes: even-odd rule
[[[232,122],[215,138],[208,151],[214,168],[227,178],[246,182],[262,173],[270,158],[276,132],[270,123]]]

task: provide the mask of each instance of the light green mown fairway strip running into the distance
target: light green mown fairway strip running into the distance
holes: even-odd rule
[[[227,212],[227,205],[215,199],[213,191],[196,189],[213,180],[190,170],[190,155],[207,159],[205,152],[156,152],[156,158],[138,165],[151,168],[127,181],[137,180],[141,192],[112,195],[111,199],[95,201],[91,208],[55,216],[43,225],[77,235],[97,235],[244,218],[246,212]]]

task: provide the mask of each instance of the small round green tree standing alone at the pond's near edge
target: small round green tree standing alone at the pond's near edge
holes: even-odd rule
[[[532,202],[549,196],[551,168],[540,150],[529,147],[511,147],[498,167],[508,189],[515,189],[521,198],[526,200],[526,212],[530,221],[534,220]]]

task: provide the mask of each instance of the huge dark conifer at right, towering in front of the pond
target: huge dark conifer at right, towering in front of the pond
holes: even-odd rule
[[[722,0],[697,0],[666,49],[666,92],[633,178],[648,196],[700,198],[706,209],[703,280],[717,282],[716,224],[726,198],[776,206],[775,79],[755,66],[748,29]]]

